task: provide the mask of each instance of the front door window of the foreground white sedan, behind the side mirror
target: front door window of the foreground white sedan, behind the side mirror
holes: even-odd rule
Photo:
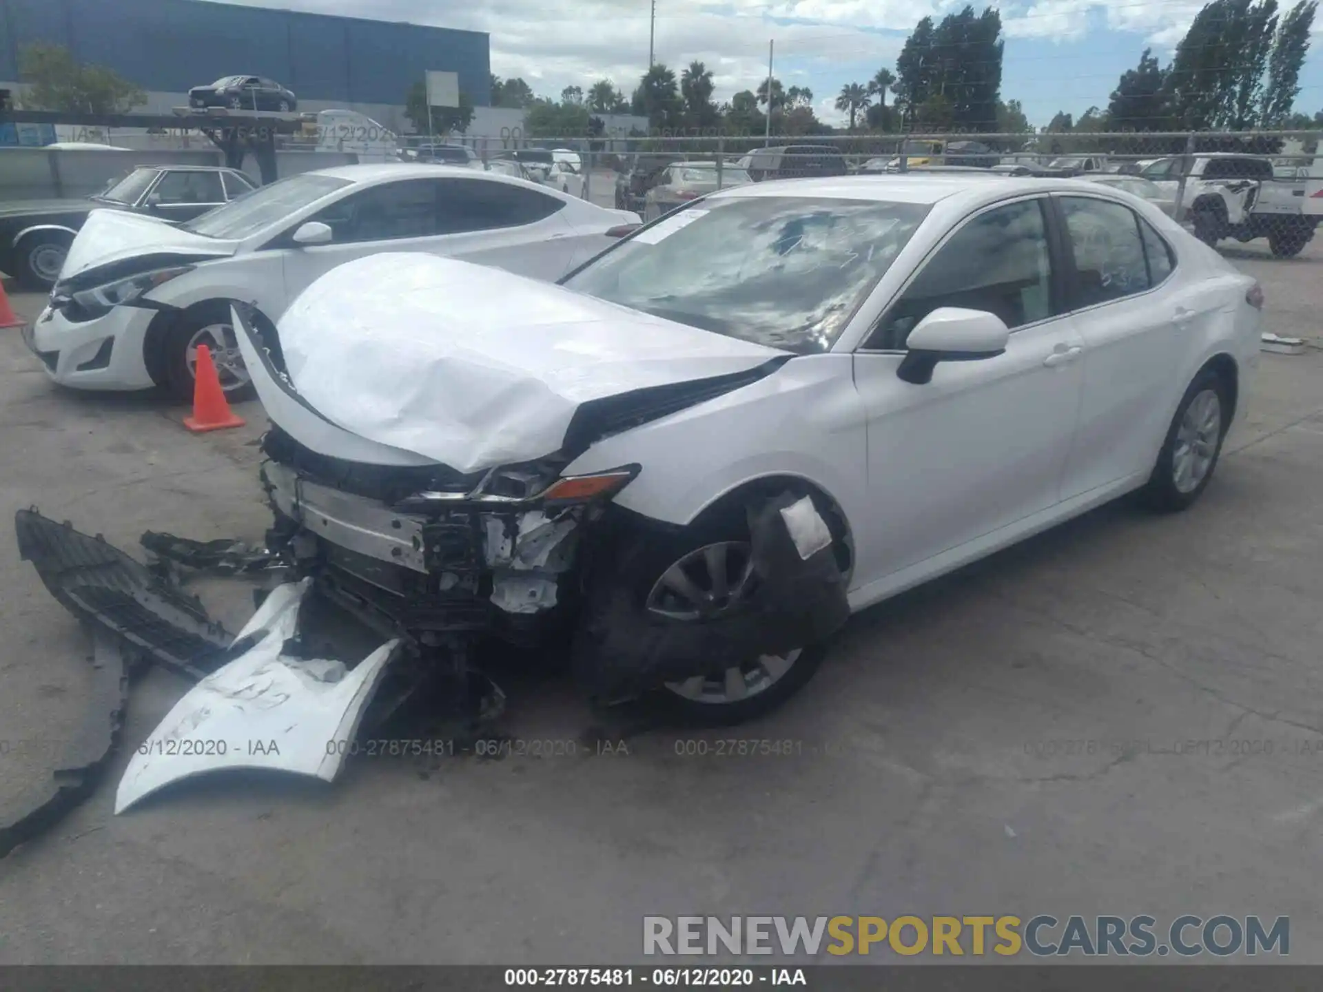
[[[923,265],[867,347],[904,348],[910,331],[938,307],[986,310],[1012,329],[1052,316],[1052,261],[1040,200],[967,221]]]

